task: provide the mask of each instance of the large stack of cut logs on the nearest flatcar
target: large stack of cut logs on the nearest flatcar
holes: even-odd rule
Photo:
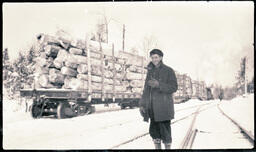
[[[113,58],[112,46],[92,40],[86,45],[86,41],[73,40],[64,32],[55,36],[40,34],[37,39],[36,88],[88,89],[89,47],[92,91],[142,92],[145,61],[124,58],[122,54]]]

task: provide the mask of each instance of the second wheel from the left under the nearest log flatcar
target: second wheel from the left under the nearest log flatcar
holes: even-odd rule
[[[57,117],[58,119],[70,118],[73,111],[68,103],[59,103],[57,107]]]

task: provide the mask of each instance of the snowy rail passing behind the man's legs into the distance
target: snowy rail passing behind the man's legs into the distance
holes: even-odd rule
[[[195,112],[190,113],[189,115],[186,115],[186,116],[184,116],[184,117],[181,117],[181,118],[179,118],[179,119],[177,119],[177,120],[171,122],[171,124],[175,124],[175,123],[177,123],[177,122],[179,122],[179,121],[181,121],[181,120],[185,120],[185,119],[187,119],[187,118],[189,118],[189,117],[191,117],[191,116],[194,116],[194,118],[195,118],[198,113],[200,113],[200,112],[202,112],[202,111],[204,111],[204,110],[206,110],[206,109],[208,109],[208,108],[211,108],[211,107],[213,107],[213,106],[216,106],[216,105],[214,104],[213,106],[210,106],[210,107],[201,109],[203,106],[208,105],[208,104],[210,104],[210,103],[203,104],[203,105],[197,105],[197,106],[191,106],[190,108],[198,107],[198,109],[197,109]],[[183,108],[183,109],[180,109],[180,110],[178,110],[178,111],[182,111],[182,110],[185,110],[185,109],[189,109],[189,108]],[[131,139],[129,139],[129,140],[126,140],[126,141],[124,141],[124,142],[122,142],[122,143],[120,143],[120,144],[118,144],[118,145],[115,145],[115,146],[111,147],[110,149],[118,148],[118,147],[120,147],[120,146],[122,146],[122,145],[125,145],[125,144],[128,144],[128,143],[130,143],[130,142],[133,142],[133,141],[135,141],[135,140],[137,140],[137,139],[139,139],[139,138],[145,137],[145,136],[148,135],[148,134],[149,134],[148,132],[145,132],[145,133],[140,134],[140,135],[138,135],[138,136],[136,136],[136,137],[134,137],[134,138],[131,138]],[[185,138],[188,138],[188,137],[185,137]]]

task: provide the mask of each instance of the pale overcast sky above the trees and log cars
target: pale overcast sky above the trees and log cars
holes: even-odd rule
[[[4,3],[3,47],[10,58],[28,50],[38,33],[64,29],[85,38],[95,30],[102,12],[108,19],[109,39],[116,49],[140,48],[153,36],[164,52],[164,63],[192,79],[231,86],[240,59],[248,57],[248,77],[254,72],[253,2],[108,2]],[[142,54],[142,51],[139,52]]]

